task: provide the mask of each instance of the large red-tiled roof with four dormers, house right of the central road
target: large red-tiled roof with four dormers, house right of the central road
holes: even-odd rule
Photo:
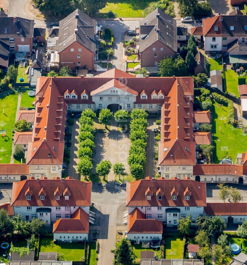
[[[148,187],[153,194],[151,200],[145,196]],[[164,191],[162,200],[156,196],[159,188]],[[177,190],[177,200],[172,200],[171,192],[174,188]],[[185,200],[186,188],[191,192],[190,200]],[[140,179],[127,182],[126,206],[206,206],[206,184],[184,179]]]

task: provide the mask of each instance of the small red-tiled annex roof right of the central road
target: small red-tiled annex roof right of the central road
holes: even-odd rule
[[[128,215],[127,233],[162,233],[162,222],[155,219],[146,219],[144,213],[135,208]]]

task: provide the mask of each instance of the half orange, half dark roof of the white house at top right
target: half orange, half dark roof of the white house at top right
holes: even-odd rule
[[[247,37],[247,30],[244,27],[247,25],[246,16],[224,16],[218,15],[203,19],[203,36],[204,37]],[[215,30],[214,27],[218,27]],[[234,27],[231,30],[231,26]]]

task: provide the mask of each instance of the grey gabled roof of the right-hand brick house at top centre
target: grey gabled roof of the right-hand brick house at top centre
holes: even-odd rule
[[[157,13],[159,17],[156,17]],[[159,30],[157,31],[157,29]],[[174,52],[177,52],[176,20],[159,8],[140,20],[140,52],[146,50],[156,41],[160,41]]]

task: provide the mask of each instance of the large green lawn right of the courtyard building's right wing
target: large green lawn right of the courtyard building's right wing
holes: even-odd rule
[[[247,135],[241,135],[242,129],[232,130],[232,125],[227,124],[227,107],[213,101],[213,145],[215,146],[213,162],[218,164],[221,158],[229,155],[233,158],[233,164],[238,153],[244,153],[247,146]],[[220,118],[223,118],[221,120]],[[221,127],[221,131],[219,131]],[[241,143],[241,144],[239,144]],[[228,146],[228,151],[221,151],[221,147]]]

